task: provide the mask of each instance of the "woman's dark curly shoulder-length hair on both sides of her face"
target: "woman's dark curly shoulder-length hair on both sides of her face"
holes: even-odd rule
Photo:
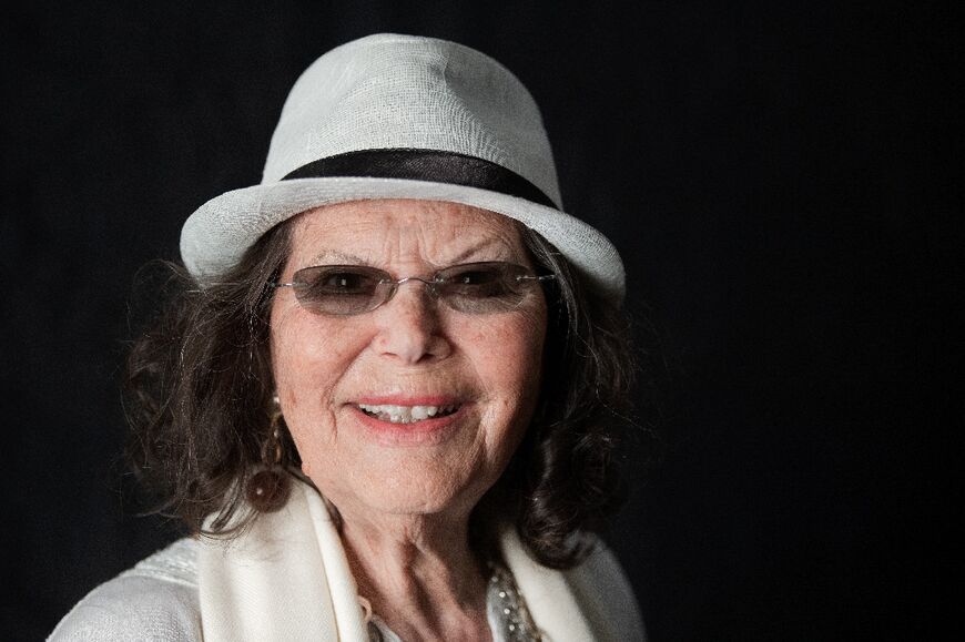
[[[474,546],[490,548],[495,518],[508,512],[535,558],[565,569],[588,550],[579,536],[598,531],[624,497],[613,452],[628,427],[630,325],[549,242],[519,227],[537,268],[558,275],[545,282],[542,389],[507,470],[474,511],[470,532]],[[149,512],[180,518],[193,533],[230,536],[258,516],[245,501],[244,482],[258,471],[270,431],[268,308],[290,244],[291,224],[281,223],[209,283],[164,263],[162,306],[131,347],[129,457],[154,498]],[[301,477],[286,432],[282,445],[284,466]]]

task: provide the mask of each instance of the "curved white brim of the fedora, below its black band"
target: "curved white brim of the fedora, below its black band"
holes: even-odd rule
[[[184,223],[181,258],[196,278],[216,278],[278,223],[322,205],[372,198],[447,201],[509,216],[552,243],[596,292],[618,303],[623,298],[624,272],[617,248],[579,218],[499,192],[406,179],[297,179],[225,192]]]

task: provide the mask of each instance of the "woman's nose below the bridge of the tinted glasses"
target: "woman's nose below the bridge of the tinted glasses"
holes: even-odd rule
[[[417,279],[398,286],[375,314],[379,324],[375,347],[379,354],[405,364],[443,359],[453,351],[443,333],[439,302]]]

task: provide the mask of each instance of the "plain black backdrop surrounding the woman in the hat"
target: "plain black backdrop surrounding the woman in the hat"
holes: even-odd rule
[[[312,60],[378,31],[456,40],[521,78],[567,208],[613,238],[631,312],[658,328],[641,344],[668,364],[667,446],[650,469],[628,449],[610,536],[652,639],[961,629],[959,16],[261,4],[3,16],[4,638],[41,639],[173,537],[120,491],[134,273],[176,256],[196,206],[260,180]]]

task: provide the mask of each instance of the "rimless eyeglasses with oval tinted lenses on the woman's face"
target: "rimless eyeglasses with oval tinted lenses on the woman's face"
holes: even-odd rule
[[[429,277],[394,278],[367,265],[316,265],[297,271],[291,287],[298,303],[315,314],[348,316],[372,312],[388,302],[398,286],[409,281],[426,284],[426,292],[466,314],[492,314],[519,306],[537,283],[556,278],[504,262],[465,263],[440,269]]]

